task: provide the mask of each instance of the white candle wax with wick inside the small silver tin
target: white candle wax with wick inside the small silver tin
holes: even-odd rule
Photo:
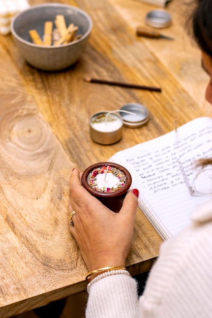
[[[123,121],[119,116],[109,114],[107,120],[105,120],[106,115],[107,113],[100,117],[100,119],[98,119],[99,116],[92,118],[92,126],[95,130],[102,133],[111,133],[122,127]]]

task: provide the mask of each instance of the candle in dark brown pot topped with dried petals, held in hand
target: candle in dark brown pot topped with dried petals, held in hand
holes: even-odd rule
[[[131,186],[129,171],[114,163],[97,163],[82,174],[83,187],[113,212],[119,212]]]

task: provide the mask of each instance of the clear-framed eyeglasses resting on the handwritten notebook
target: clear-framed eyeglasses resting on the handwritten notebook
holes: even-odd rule
[[[212,169],[201,167],[196,172],[193,177],[192,183],[189,181],[188,175],[186,174],[185,169],[180,161],[180,155],[178,151],[178,136],[177,136],[177,127],[175,120],[175,153],[177,162],[180,168],[180,171],[183,175],[184,181],[189,188],[191,196],[201,197],[201,196],[212,196]],[[191,167],[190,167],[191,169]],[[193,173],[189,173],[193,175]]]

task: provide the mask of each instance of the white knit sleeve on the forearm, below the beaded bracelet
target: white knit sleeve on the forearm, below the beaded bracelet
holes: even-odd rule
[[[125,274],[106,276],[90,287],[86,318],[100,317],[138,318],[137,283],[133,278]]]

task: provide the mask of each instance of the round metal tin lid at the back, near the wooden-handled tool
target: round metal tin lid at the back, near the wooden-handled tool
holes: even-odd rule
[[[146,24],[154,27],[165,27],[171,24],[171,15],[163,10],[154,10],[147,13]]]

